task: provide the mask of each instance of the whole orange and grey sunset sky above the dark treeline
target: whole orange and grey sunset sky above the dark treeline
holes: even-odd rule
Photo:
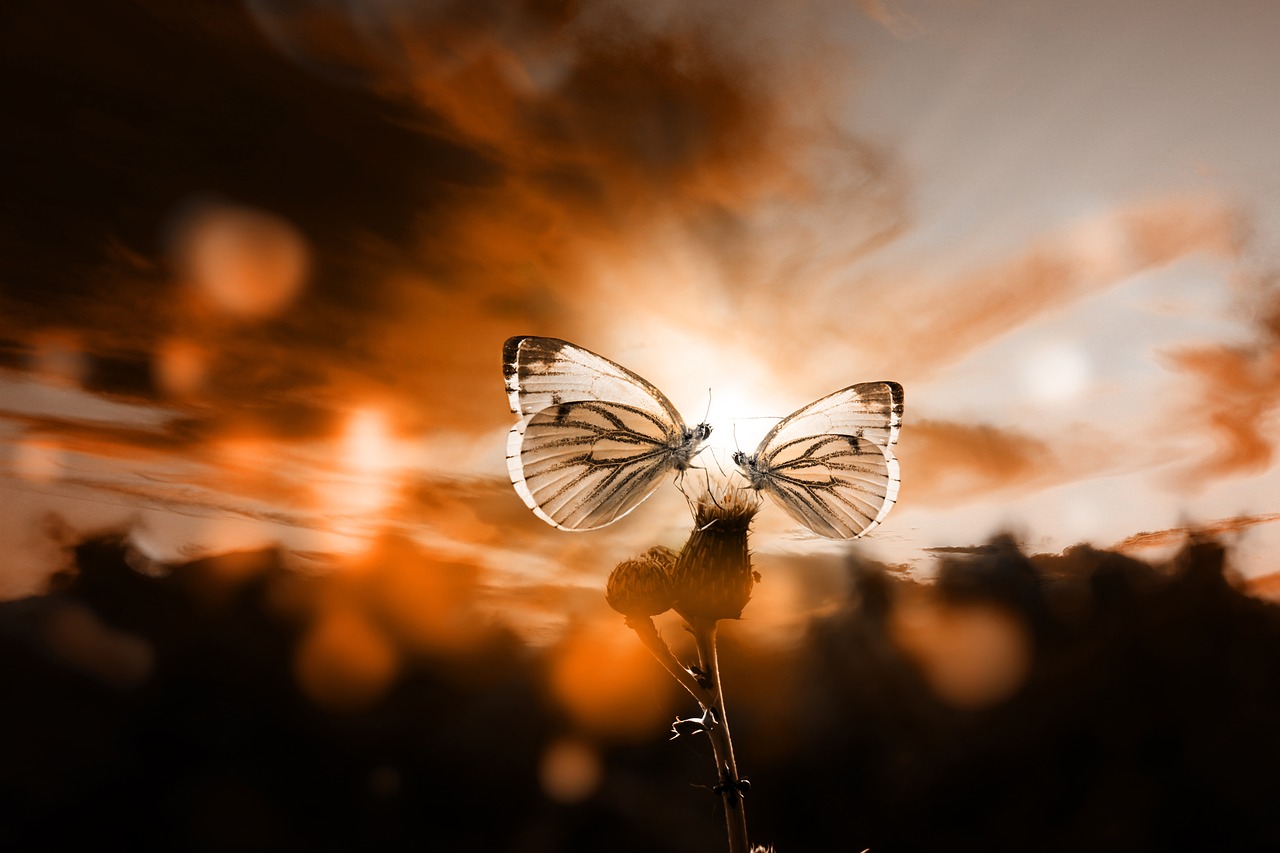
[[[142,570],[397,535],[531,637],[598,612],[689,511],[525,508],[515,334],[645,377],[726,466],[904,386],[879,528],[756,519],[783,635],[851,552],[927,578],[1002,532],[1208,529],[1271,574],[1277,32],[1243,0],[4,4],[0,596],[109,528]]]

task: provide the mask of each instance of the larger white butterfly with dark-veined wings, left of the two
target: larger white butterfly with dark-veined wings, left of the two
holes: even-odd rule
[[[692,464],[710,435],[626,368],[557,338],[502,348],[511,411],[507,470],[516,493],[561,530],[613,524]]]

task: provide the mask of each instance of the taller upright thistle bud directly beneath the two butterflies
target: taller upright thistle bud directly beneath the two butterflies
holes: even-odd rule
[[[694,505],[694,532],[671,571],[676,612],[685,619],[739,619],[751,598],[746,534],[759,510],[754,492],[703,496]]]

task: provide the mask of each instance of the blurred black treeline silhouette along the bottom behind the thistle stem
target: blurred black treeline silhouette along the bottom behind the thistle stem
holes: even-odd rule
[[[1016,684],[982,701],[931,689],[896,616],[922,587],[879,566],[851,564],[847,603],[795,648],[727,630],[753,836],[781,853],[1280,849],[1280,610],[1238,592],[1225,556],[996,540],[948,557],[931,601],[1007,613],[1028,644]],[[577,802],[545,793],[540,761],[575,734],[548,689],[554,646],[483,621],[334,704],[294,661],[316,612],[298,602],[340,579],[274,551],[160,573],[110,535],[74,562],[0,605],[0,848],[724,844],[707,744],[660,726],[595,738],[603,774]]]

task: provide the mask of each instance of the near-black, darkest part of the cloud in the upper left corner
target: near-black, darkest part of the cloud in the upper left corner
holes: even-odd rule
[[[238,5],[72,14],[18,3],[6,18],[8,73],[24,81],[5,138],[18,167],[5,237],[20,250],[6,259],[6,284],[46,321],[58,306],[41,287],[105,296],[97,275],[77,273],[100,274],[113,241],[159,260],[165,224],[200,193],[279,213],[337,241],[340,257],[362,234],[410,240],[439,204],[421,188],[493,173],[474,151],[404,127],[413,111],[296,68]],[[324,283],[361,297],[340,279]],[[163,282],[150,284],[131,296],[160,307]],[[63,310],[74,319],[78,307]]]

